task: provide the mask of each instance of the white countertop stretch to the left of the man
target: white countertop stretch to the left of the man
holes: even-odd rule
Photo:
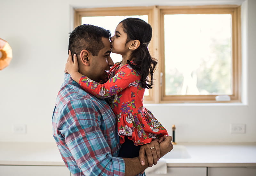
[[[53,142],[0,142],[0,165],[65,166]]]

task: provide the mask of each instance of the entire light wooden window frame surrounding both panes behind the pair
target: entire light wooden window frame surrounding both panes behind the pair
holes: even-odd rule
[[[83,16],[148,15],[153,34],[149,51],[158,60],[154,74],[154,87],[144,96],[144,103],[223,103],[217,95],[165,95],[164,75],[164,14],[231,14],[232,16],[232,88],[231,102],[241,102],[241,22],[238,5],[204,6],[149,6],[75,9],[74,27],[81,24]],[[225,102],[226,103],[226,102]]]

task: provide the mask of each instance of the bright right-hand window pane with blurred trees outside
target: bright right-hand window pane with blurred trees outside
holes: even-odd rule
[[[232,94],[231,15],[164,15],[165,95]]]

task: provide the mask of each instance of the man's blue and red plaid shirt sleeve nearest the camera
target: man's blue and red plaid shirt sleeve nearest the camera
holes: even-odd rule
[[[85,100],[68,102],[63,110],[61,135],[84,175],[124,175],[124,160],[112,156],[100,128],[101,115],[93,106]]]

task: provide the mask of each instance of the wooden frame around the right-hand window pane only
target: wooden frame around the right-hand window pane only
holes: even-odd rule
[[[165,14],[231,14],[232,24],[232,94],[230,101],[241,102],[241,31],[240,31],[240,7],[237,5],[208,5],[208,6],[163,6],[160,7],[160,22],[161,22],[161,68],[160,72],[164,73],[164,15]],[[223,103],[216,101],[217,95],[165,95],[165,75],[163,74],[160,103]]]

